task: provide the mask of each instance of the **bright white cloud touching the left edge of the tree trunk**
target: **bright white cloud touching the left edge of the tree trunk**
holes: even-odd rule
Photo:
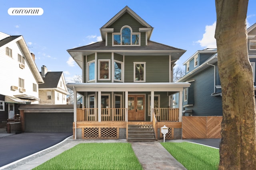
[[[217,48],[216,39],[214,38],[216,28],[216,21],[212,25],[206,25],[205,33],[201,40],[196,41],[201,47]]]

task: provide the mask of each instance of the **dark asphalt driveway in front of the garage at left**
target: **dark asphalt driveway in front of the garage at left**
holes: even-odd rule
[[[60,143],[72,133],[20,133],[0,137],[0,167]]]

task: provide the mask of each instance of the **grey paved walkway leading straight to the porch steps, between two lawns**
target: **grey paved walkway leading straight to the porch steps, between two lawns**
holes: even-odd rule
[[[144,170],[186,170],[159,142],[131,142]]]

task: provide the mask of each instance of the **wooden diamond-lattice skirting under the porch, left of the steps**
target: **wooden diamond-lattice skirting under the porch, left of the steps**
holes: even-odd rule
[[[84,127],[82,139],[119,139],[118,127]]]

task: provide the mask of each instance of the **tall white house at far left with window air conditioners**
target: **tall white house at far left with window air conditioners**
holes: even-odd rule
[[[19,104],[38,104],[44,80],[22,35],[0,32],[0,121],[19,113]]]

